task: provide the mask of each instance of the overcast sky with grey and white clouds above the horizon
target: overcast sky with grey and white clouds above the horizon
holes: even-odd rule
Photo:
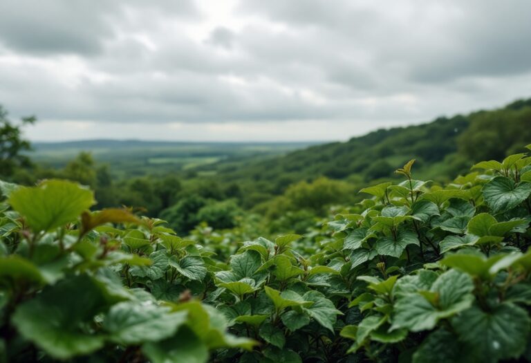
[[[529,0],[1,0],[32,140],[346,140],[531,97]]]

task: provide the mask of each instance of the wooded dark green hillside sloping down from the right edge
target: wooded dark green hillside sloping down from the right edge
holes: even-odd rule
[[[389,178],[411,158],[417,159],[418,178],[452,178],[466,172],[470,162],[503,158],[529,143],[531,99],[427,124],[380,129],[347,142],[315,145],[268,160],[225,160],[198,169],[216,169],[220,180],[261,183],[263,192],[278,194],[292,183],[319,176],[360,183]]]

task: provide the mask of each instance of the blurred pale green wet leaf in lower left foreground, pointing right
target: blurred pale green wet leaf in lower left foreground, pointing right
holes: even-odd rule
[[[158,342],[171,337],[187,319],[185,311],[169,313],[169,308],[125,301],[106,315],[103,328],[118,344]]]

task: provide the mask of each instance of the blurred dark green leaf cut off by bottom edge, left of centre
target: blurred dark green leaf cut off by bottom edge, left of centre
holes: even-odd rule
[[[189,328],[180,328],[178,333],[162,342],[146,343],[142,352],[152,363],[205,363],[208,348]]]

